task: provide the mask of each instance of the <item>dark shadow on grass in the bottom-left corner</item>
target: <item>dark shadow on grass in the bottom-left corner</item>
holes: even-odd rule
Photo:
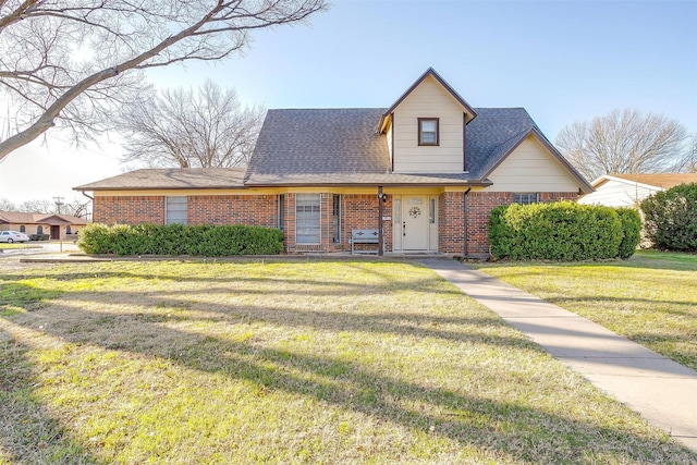
[[[0,329],[0,463],[102,463],[38,399],[27,352]]]

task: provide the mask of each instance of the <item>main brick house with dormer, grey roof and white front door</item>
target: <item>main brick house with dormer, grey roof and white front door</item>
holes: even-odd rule
[[[351,250],[370,229],[387,253],[464,256],[488,254],[492,208],[592,191],[524,109],[472,108],[432,69],[389,108],[269,110],[246,170],[75,189],[94,193],[95,222],[279,227],[289,253]]]

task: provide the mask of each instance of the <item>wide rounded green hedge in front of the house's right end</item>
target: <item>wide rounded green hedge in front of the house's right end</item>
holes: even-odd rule
[[[493,257],[513,260],[628,258],[639,229],[638,213],[629,209],[574,201],[514,204],[491,211],[489,243]]]

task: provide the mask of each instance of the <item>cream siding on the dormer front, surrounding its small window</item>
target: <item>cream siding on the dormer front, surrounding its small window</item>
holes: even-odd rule
[[[394,171],[452,173],[463,171],[463,111],[433,77],[424,79],[394,109]],[[439,145],[418,145],[418,119],[439,119]]]

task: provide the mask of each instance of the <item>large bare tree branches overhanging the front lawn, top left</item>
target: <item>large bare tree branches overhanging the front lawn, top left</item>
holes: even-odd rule
[[[142,71],[220,60],[254,29],[305,21],[327,0],[0,0],[0,87],[12,99],[14,134],[0,160],[50,127],[75,140],[135,101]]]

